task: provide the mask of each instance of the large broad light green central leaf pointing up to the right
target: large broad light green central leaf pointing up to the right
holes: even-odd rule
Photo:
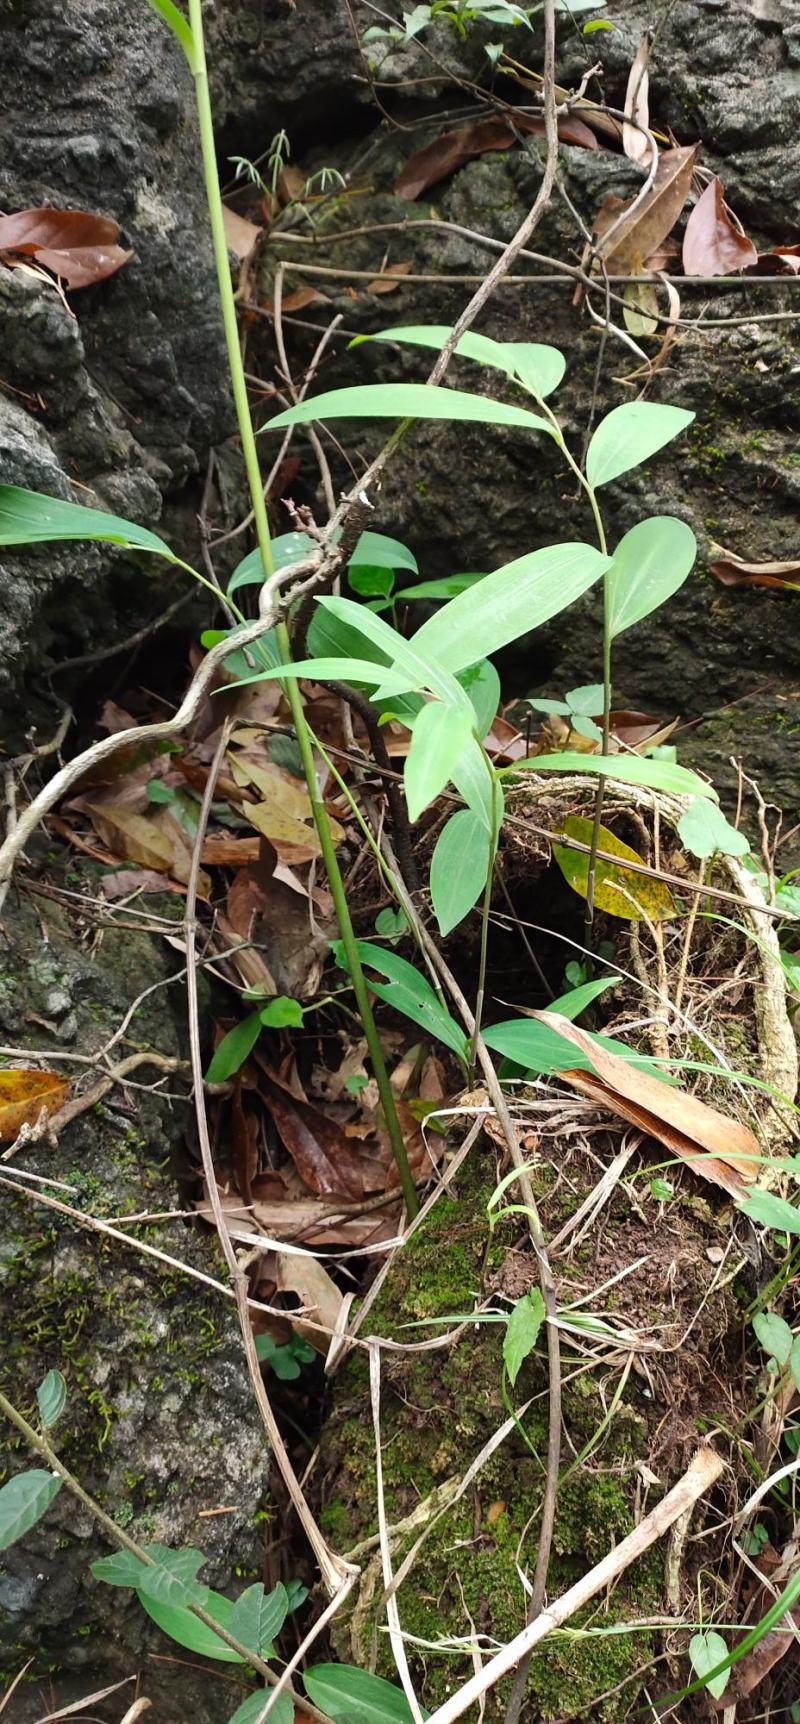
[[[422,622],[412,645],[447,671],[464,671],[566,610],[609,567],[593,545],[547,545],[486,574]]]

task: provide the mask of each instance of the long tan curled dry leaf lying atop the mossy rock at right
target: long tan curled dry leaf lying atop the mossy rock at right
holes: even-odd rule
[[[641,1126],[690,1164],[702,1179],[722,1188],[734,1198],[747,1196],[748,1186],[759,1177],[759,1143],[748,1126],[717,1114],[684,1090],[660,1083],[648,1072],[629,1065],[617,1053],[598,1046],[578,1024],[567,1022],[560,1012],[533,1012],[540,1022],[557,1029],[591,1060],[593,1071],[564,1071],[574,1090],[609,1107],[614,1114]]]

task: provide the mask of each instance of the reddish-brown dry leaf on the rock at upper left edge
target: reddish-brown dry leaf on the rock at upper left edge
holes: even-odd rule
[[[88,288],[114,276],[133,252],[116,241],[119,226],[90,210],[17,210],[0,216],[0,252],[34,257],[69,288]]]

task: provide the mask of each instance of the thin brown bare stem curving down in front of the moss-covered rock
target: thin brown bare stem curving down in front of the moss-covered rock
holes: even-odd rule
[[[383,838],[383,852],[384,852],[386,862],[390,864],[393,874],[398,876],[397,862],[395,862],[395,857],[393,857],[391,845],[390,845],[388,838]],[[522,1195],[522,1203],[526,1207],[528,1231],[531,1234],[531,1245],[533,1245],[533,1250],[536,1253],[536,1265],[538,1265],[538,1274],[540,1274],[540,1288],[541,1288],[541,1296],[545,1300],[545,1312],[547,1312],[547,1365],[548,1365],[548,1377],[550,1377],[548,1429],[547,1429],[547,1465],[545,1465],[545,1496],[543,1496],[543,1503],[541,1503],[540,1543],[538,1543],[538,1552],[536,1552],[536,1569],[534,1569],[533,1588],[531,1588],[531,1605],[533,1605],[534,1600],[540,1600],[538,1608],[541,1608],[541,1602],[545,1598],[545,1590],[547,1590],[547,1571],[548,1571],[548,1565],[550,1565],[550,1548],[552,1548],[552,1541],[553,1541],[555,1496],[557,1496],[557,1490],[559,1490],[559,1467],[560,1467],[560,1340],[559,1340],[559,1326],[557,1326],[559,1310],[557,1310],[557,1298],[555,1298],[555,1283],[553,1283],[553,1276],[552,1276],[552,1269],[550,1269],[550,1259],[548,1259],[548,1253],[547,1253],[545,1234],[541,1231],[540,1214],[538,1214],[536,1202],[534,1202],[534,1196],[533,1196],[531,1181],[529,1181],[528,1171],[526,1171],[524,1155],[522,1155],[522,1152],[519,1148],[517,1133],[514,1131],[512,1117],[509,1114],[509,1105],[507,1105],[505,1095],[503,1095],[503,1091],[500,1088],[500,1079],[497,1076],[497,1071],[495,1071],[495,1065],[493,1065],[493,1060],[491,1060],[491,1053],[490,1053],[490,1050],[488,1050],[488,1046],[486,1046],[481,1033],[476,1034],[476,1021],[474,1021],[474,1015],[472,1015],[472,1012],[469,1009],[469,1003],[467,1003],[462,990],[459,988],[459,983],[455,981],[455,976],[452,974],[447,960],[441,957],[441,952],[440,952],[436,941],[431,938],[431,934],[428,933],[428,928],[419,919],[419,915],[416,912],[416,907],[414,907],[409,893],[405,891],[403,881],[398,879],[398,878],[395,878],[395,890],[397,890],[397,895],[400,898],[402,909],[405,910],[405,914],[409,917],[409,922],[410,922],[410,926],[416,931],[419,945],[428,953],[428,957],[431,960],[431,965],[441,976],[441,981],[443,981],[443,984],[445,984],[445,988],[447,988],[447,991],[448,991],[453,1005],[457,1007],[467,1034],[474,1036],[474,1057],[478,1059],[478,1064],[479,1064],[479,1067],[483,1071],[483,1078],[484,1078],[484,1083],[486,1083],[486,1091],[488,1091],[488,1096],[490,1096],[491,1105],[495,1109],[497,1119],[500,1122],[500,1129],[503,1133],[505,1143],[509,1146],[509,1155],[510,1155],[512,1165],[517,1169],[517,1174],[519,1174],[519,1190],[521,1190],[521,1195]]]

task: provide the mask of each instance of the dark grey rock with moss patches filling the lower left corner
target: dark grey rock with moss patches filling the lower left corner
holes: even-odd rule
[[[52,900],[10,900],[0,953],[5,1045],[91,1055],[138,993],[162,983],[112,1052],[155,1048],[186,1057],[179,967],[147,933],[105,929],[88,948],[81,926]],[[169,910],[169,902],[160,905]],[[174,914],[174,905],[172,912]],[[47,940],[43,940],[47,929]],[[83,929],[83,933],[86,933]],[[59,1067],[83,1072],[84,1067]],[[91,1076],[91,1083],[97,1083]],[[114,1090],[48,1143],[24,1145],[12,1165],[55,1200],[131,1227],[141,1243],[222,1279],[209,1233],[169,1221],[183,1207],[172,1160],[190,1110],[138,1088]],[[172,1093],[183,1074],[167,1076]],[[64,1190],[67,1186],[69,1190]],[[224,1271],[222,1271],[224,1272]],[[105,1512],[141,1543],[195,1545],[202,1579],[231,1596],[260,1576],[269,1515],[269,1448],[252,1402],[233,1302],[167,1262],[3,1191],[0,1234],[0,1384],[38,1424],[36,1386],[59,1369],[67,1403],[52,1441]],[[0,1427],[0,1483],[38,1464],[12,1426]],[[219,1512],[219,1510],[224,1512]],[[91,1515],[62,1490],[47,1515],[0,1557],[0,1691],[33,1658],[14,1696],[17,1724],[138,1671],[159,1724],[221,1724],[245,1690],[229,1665],[181,1657],[128,1590],[93,1579],[109,1553]],[[184,1655],[190,1658],[190,1655]],[[119,1717],[121,1712],[112,1714]]]

